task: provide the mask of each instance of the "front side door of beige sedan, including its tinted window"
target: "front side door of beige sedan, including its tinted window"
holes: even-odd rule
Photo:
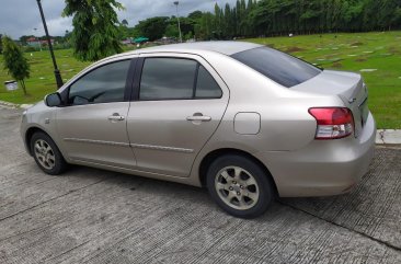
[[[75,161],[134,168],[126,116],[135,59],[101,65],[68,89],[67,105],[57,111],[57,131]]]

